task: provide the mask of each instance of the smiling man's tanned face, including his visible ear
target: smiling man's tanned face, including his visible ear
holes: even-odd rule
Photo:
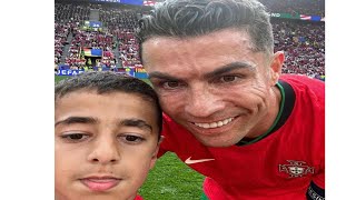
[[[142,60],[164,111],[208,147],[256,138],[277,117],[280,92],[275,84],[284,54],[255,52],[245,31],[154,37],[142,44]],[[222,127],[197,126],[225,119],[231,121]]]

